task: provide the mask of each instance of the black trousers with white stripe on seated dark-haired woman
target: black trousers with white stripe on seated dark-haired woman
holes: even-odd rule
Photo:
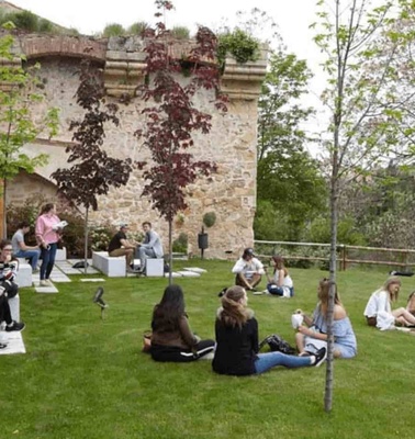
[[[201,340],[194,349],[183,349],[176,346],[152,345],[150,353],[155,361],[172,361],[187,363],[199,360],[201,357],[213,352],[215,349],[214,340]]]

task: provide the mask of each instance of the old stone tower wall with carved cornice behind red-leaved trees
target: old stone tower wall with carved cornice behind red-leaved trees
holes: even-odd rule
[[[189,45],[189,43],[187,43]],[[187,45],[173,47],[180,57]],[[112,155],[148,159],[149,154],[133,133],[143,124],[141,110],[144,102],[135,95],[135,90],[144,80],[145,67],[143,41],[139,37],[116,37],[94,40],[86,36],[22,35],[16,37],[16,55],[25,55],[27,63],[40,63],[40,77],[43,83],[45,106],[60,109],[59,134],[52,140],[37,138],[26,145],[26,153],[46,153],[51,159],[47,166],[36,169],[34,175],[21,173],[9,183],[8,203],[20,203],[36,193],[56,199],[56,187],[51,175],[59,167],[67,166],[65,147],[71,143],[72,133],[68,131],[71,120],[80,119],[81,112],[75,102],[79,85],[79,64],[88,56],[97,69],[102,69],[108,101],[119,103],[125,92],[133,95],[128,104],[120,104],[120,126],[109,126],[104,147]],[[16,57],[15,63],[20,63]],[[209,93],[200,93],[195,105],[213,115],[213,126],[209,135],[194,135],[192,154],[201,159],[213,160],[217,173],[209,179],[200,179],[189,188],[189,210],[178,218],[175,235],[186,233],[189,238],[189,252],[198,254],[198,233],[202,217],[214,212],[216,223],[209,228],[209,249],[205,257],[225,257],[232,250],[238,251],[253,245],[253,222],[256,209],[256,142],[257,142],[257,100],[260,83],[266,72],[266,59],[238,65],[228,59],[222,77],[222,91],[229,97],[228,113],[220,115],[211,104]],[[186,81],[182,77],[180,81]],[[34,113],[35,114],[35,113]],[[40,113],[41,114],[41,113]],[[132,175],[127,187],[111,190],[102,196],[99,210],[91,212],[94,224],[127,221],[132,230],[139,230],[143,221],[150,221],[154,228],[167,240],[167,224],[152,210],[147,199],[141,196],[143,180],[139,172]]]

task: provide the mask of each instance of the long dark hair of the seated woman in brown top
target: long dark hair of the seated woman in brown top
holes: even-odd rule
[[[186,315],[183,290],[179,285],[168,285],[161,301],[153,312],[152,328],[165,331],[175,330],[179,326],[179,319]]]

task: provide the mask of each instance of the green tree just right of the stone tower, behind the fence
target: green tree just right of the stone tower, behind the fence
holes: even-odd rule
[[[304,225],[326,205],[326,182],[305,148],[312,139],[301,128],[313,112],[299,104],[310,78],[304,60],[280,49],[270,58],[259,98],[257,217],[271,204],[287,225],[282,240],[299,239]],[[260,224],[256,221],[256,227]],[[256,228],[256,237],[263,234]]]

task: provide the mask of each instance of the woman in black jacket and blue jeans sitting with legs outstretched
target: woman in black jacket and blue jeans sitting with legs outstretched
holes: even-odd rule
[[[216,350],[214,372],[225,375],[253,375],[277,367],[321,365],[326,348],[310,357],[289,356],[279,351],[258,353],[258,322],[247,307],[248,296],[240,285],[231,286],[222,296],[215,323]]]

